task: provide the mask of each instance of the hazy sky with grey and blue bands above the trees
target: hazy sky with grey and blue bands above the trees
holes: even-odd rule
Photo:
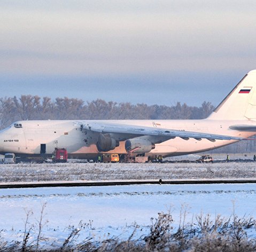
[[[256,68],[255,0],[0,5],[0,97],[218,105]]]

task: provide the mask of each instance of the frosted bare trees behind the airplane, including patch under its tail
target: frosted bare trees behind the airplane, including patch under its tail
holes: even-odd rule
[[[0,98],[0,129],[19,120],[108,120],[108,119],[204,119],[214,110],[209,101],[201,106],[176,103],[173,106],[117,103],[96,99],[56,98],[22,95]],[[250,152],[255,141],[241,141],[223,148],[224,152]]]

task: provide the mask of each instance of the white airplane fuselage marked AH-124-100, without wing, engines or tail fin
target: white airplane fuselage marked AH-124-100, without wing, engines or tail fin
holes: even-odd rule
[[[11,152],[18,155],[40,155],[42,145],[46,147],[46,154],[51,154],[56,147],[67,148],[69,157],[94,158],[98,155],[96,143],[98,133],[84,131],[80,128],[83,121],[19,121],[22,127],[16,128],[12,124],[9,128],[0,131],[0,152]],[[98,122],[98,121],[86,121]],[[156,127],[164,129],[185,130],[193,132],[213,133],[236,137],[250,137],[256,132],[244,132],[231,130],[230,125],[250,124],[250,120],[106,120],[105,123],[140,125],[144,127]],[[175,156],[189,153],[208,151],[224,145],[234,143],[237,140],[196,140],[190,138],[184,140],[180,137],[166,140],[156,144],[156,148],[146,155]],[[120,141],[120,146],[108,153],[125,154],[125,141]]]

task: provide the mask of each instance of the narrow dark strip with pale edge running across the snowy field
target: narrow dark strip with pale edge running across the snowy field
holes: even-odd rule
[[[0,188],[35,188],[35,187],[79,187],[79,186],[113,186],[144,184],[246,184],[256,183],[256,178],[212,178],[212,179],[131,179],[131,180],[76,180],[48,182],[9,182],[0,183]]]

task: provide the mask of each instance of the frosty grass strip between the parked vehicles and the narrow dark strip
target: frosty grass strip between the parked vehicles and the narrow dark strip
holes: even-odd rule
[[[1,164],[1,182],[50,180],[127,180],[255,178],[255,163],[44,163]]]

